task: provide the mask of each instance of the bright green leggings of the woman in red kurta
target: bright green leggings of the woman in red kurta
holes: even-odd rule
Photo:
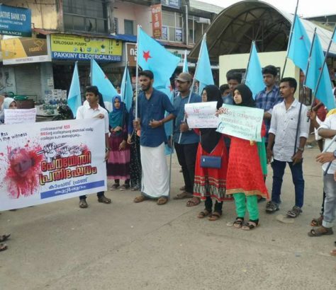
[[[250,215],[250,221],[259,221],[258,197],[257,195],[247,195],[242,192],[233,195],[235,199],[235,211],[237,217],[244,218],[246,207]],[[245,202],[246,198],[246,202]]]

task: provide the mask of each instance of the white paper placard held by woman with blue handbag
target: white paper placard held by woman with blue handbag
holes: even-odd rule
[[[189,103],[184,105],[188,115],[189,128],[217,128],[218,117],[215,116],[217,102]]]

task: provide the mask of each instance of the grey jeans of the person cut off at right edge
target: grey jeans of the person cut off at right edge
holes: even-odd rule
[[[333,174],[323,176],[323,186],[325,192],[325,207],[322,225],[325,228],[331,228],[335,220],[336,210],[336,182]]]

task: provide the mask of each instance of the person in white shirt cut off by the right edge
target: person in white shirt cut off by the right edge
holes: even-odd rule
[[[322,226],[313,228],[308,233],[310,237],[331,235],[336,210],[336,142],[332,140],[336,134],[336,115],[330,115],[318,128],[318,135],[325,138],[327,152],[320,153],[316,161],[323,163],[323,190],[325,192],[325,204]],[[332,144],[330,144],[332,142]],[[329,146],[330,145],[330,146]]]

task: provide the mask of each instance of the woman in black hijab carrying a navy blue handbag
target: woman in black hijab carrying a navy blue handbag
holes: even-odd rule
[[[217,102],[217,109],[223,105],[223,100],[217,86],[206,86],[202,93],[202,102]],[[222,215],[223,200],[225,198],[226,171],[228,168],[228,153],[226,151],[223,135],[216,132],[217,128],[196,129],[200,135],[198,144],[194,196],[205,200],[205,209],[198,214],[199,219],[209,216],[209,221],[216,221]],[[220,159],[219,168],[201,165],[201,158],[217,156]],[[213,201],[215,208],[212,211]]]

